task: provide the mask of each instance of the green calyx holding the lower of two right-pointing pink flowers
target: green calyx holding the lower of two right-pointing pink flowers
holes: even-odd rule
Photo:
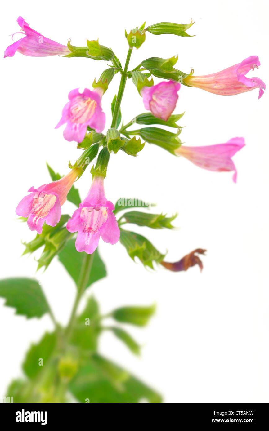
[[[172,154],[175,154],[175,150],[181,145],[181,141],[178,138],[178,135],[181,133],[181,128],[178,128],[178,133],[172,133],[158,127],[144,127],[135,133],[139,134],[142,139],[149,144],[158,145],[158,147]]]

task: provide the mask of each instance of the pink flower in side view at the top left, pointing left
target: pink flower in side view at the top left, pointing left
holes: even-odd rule
[[[51,55],[67,55],[70,54],[70,50],[66,45],[58,44],[47,37],[42,36],[38,31],[33,30],[25,19],[21,16],[17,19],[19,26],[22,31],[18,31],[19,34],[25,34],[25,37],[9,45],[5,50],[5,57],[13,57],[18,51],[21,54],[28,55],[31,57],[47,57]],[[16,34],[16,33],[14,33]]]

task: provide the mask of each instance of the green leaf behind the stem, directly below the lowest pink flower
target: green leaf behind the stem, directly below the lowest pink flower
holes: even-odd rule
[[[75,249],[75,239],[71,239],[67,242],[63,250],[58,254],[58,258],[66,268],[66,271],[75,281],[75,284],[78,284],[84,253],[79,253]],[[103,277],[106,277],[106,267],[100,258],[98,251],[96,250],[94,253],[93,265],[91,267],[87,287]]]

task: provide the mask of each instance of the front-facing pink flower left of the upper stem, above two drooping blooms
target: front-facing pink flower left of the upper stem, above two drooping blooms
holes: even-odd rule
[[[102,95],[103,91],[100,88],[94,91],[85,88],[82,94],[78,88],[70,91],[69,102],[64,106],[62,118],[55,127],[57,129],[67,123],[63,131],[66,141],[82,142],[88,126],[98,133],[103,131],[106,116],[101,108]]]

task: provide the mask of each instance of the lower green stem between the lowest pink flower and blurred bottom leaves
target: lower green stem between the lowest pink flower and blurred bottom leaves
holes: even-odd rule
[[[81,267],[81,272],[80,272],[79,279],[78,279],[77,295],[75,297],[75,302],[74,302],[72,312],[70,315],[70,319],[69,319],[69,322],[68,322],[68,325],[66,328],[66,333],[65,333],[66,339],[68,339],[68,337],[70,336],[70,334],[72,332],[73,325],[75,323],[75,317],[76,317],[78,304],[81,300],[82,295],[84,294],[84,290],[87,287],[87,282],[88,282],[88,279],[90,276],[93,260],[94,260],[94,253],[92,253],[92,254],[85,253],[84,260],[83,260],[82,267]]]

